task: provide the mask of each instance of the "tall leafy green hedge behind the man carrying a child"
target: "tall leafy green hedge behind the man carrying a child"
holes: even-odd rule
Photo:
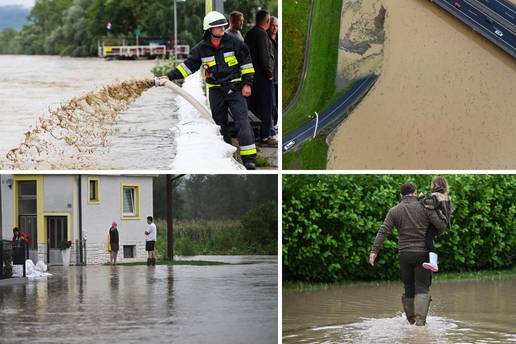
[[[397,231],[371,267],[369,252],[399,186],[429,192],[433,175],[286,175],[283,177],[283,276],[286,280],[399,278]],[[455,212],[437,238],[441,271],[514,266],[516,176],[446,175]]]

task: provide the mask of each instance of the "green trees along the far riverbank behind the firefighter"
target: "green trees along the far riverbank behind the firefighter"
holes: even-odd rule
[[[0,31],[0,54],[95,56],[103,37],[173,36],[173,0],[38,0],[22,30]],[[244,31],[257,9],[277,13],[276,0],[226,0],[226,13],[245,15]],[[202,37],[204,0],[177,2],[178,41],[194,45]],[[107,23],[112,24],[111,30]]]

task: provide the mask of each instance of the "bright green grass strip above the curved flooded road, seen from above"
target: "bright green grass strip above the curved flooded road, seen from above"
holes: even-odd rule
[[[287,7],[288,2],[284,5],[284,8]],[[310,64],[299,101],[283,117],[284,135],[306,123],[309,114],[325,109],[334,98],[341,9],[342,0],[315,3],[309,47]],[[283,49],[288,49],[288,46]],[[288,72],[284,70],[283,74]]]

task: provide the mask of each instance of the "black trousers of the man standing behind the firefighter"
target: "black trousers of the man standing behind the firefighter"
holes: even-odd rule
[[[267,139],[272,134],[274,123],[274,82],[260,73],[256,73],[251,96],[247,102],[251,111],[262,121],[260,138]]]

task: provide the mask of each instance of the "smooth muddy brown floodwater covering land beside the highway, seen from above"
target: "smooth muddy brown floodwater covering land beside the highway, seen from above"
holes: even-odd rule
[[[428,0],[381,3],[382,73],[328,168],[516,168],[516,61]]]

